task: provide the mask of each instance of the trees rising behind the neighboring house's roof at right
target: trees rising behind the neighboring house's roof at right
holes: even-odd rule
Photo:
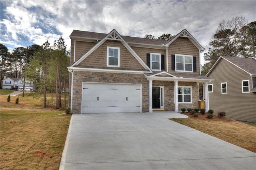
[[[256,57],[256,21],[248,23],[244,16],[236,16],[219,22],[204,53],[203,75],[220,56]]]

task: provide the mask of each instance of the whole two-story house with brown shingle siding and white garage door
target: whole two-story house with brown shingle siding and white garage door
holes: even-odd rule
[[[202,47],[187,30],[168,41],[74,30],[70,107],[73,113],[132,113],[198,108]],[[209,109],[208,93],[206,110]]]

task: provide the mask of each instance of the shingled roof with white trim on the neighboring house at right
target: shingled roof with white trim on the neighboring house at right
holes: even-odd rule
[[[249,75],[256,75],[256,58],[252,57],[252,58],[243,58],[243,57],[228,57],[228,56],[221,56],[218,58],[218,60],[214,63],[214,65],[212,66],[212,68],[208,71],[208,73],[206,74],[206,76],[208,76],[210,74],[210,72],[214,69],[214,67],[218,64],[218,62],[224,59],[230,63],[232,63],[233,65],[235,65],[236,67],[242,69],[243,71],[245,71],[246,73],[248,73]]]

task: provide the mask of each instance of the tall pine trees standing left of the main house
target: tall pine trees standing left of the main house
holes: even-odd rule
[[[70,51],[66,50],[64,39],[60,37],[50,45],[48,40],[43,45],[17,47],[11,53],[8,47],[0,44],[1,89],[4,76],[23,78],[36,84],[36,91],[44,94],[43,105],[47,105],[46,93],[55,93],[54,107],[65,108],[68,92]],[[62,97],[62,95],[64,96]],[[63,100],[64,98],[64,100]],[[52,107],[52,105],[50,106]]]

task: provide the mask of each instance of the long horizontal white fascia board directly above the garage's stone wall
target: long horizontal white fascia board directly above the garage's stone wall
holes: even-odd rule
[[[84,67],[68,67],[68,70],[69,71],[92,71],[92,72],[102,72],[102,73],[129,73],[129,74],[151,73],[150,71],[98,69],[98,68],[84,68]]]

